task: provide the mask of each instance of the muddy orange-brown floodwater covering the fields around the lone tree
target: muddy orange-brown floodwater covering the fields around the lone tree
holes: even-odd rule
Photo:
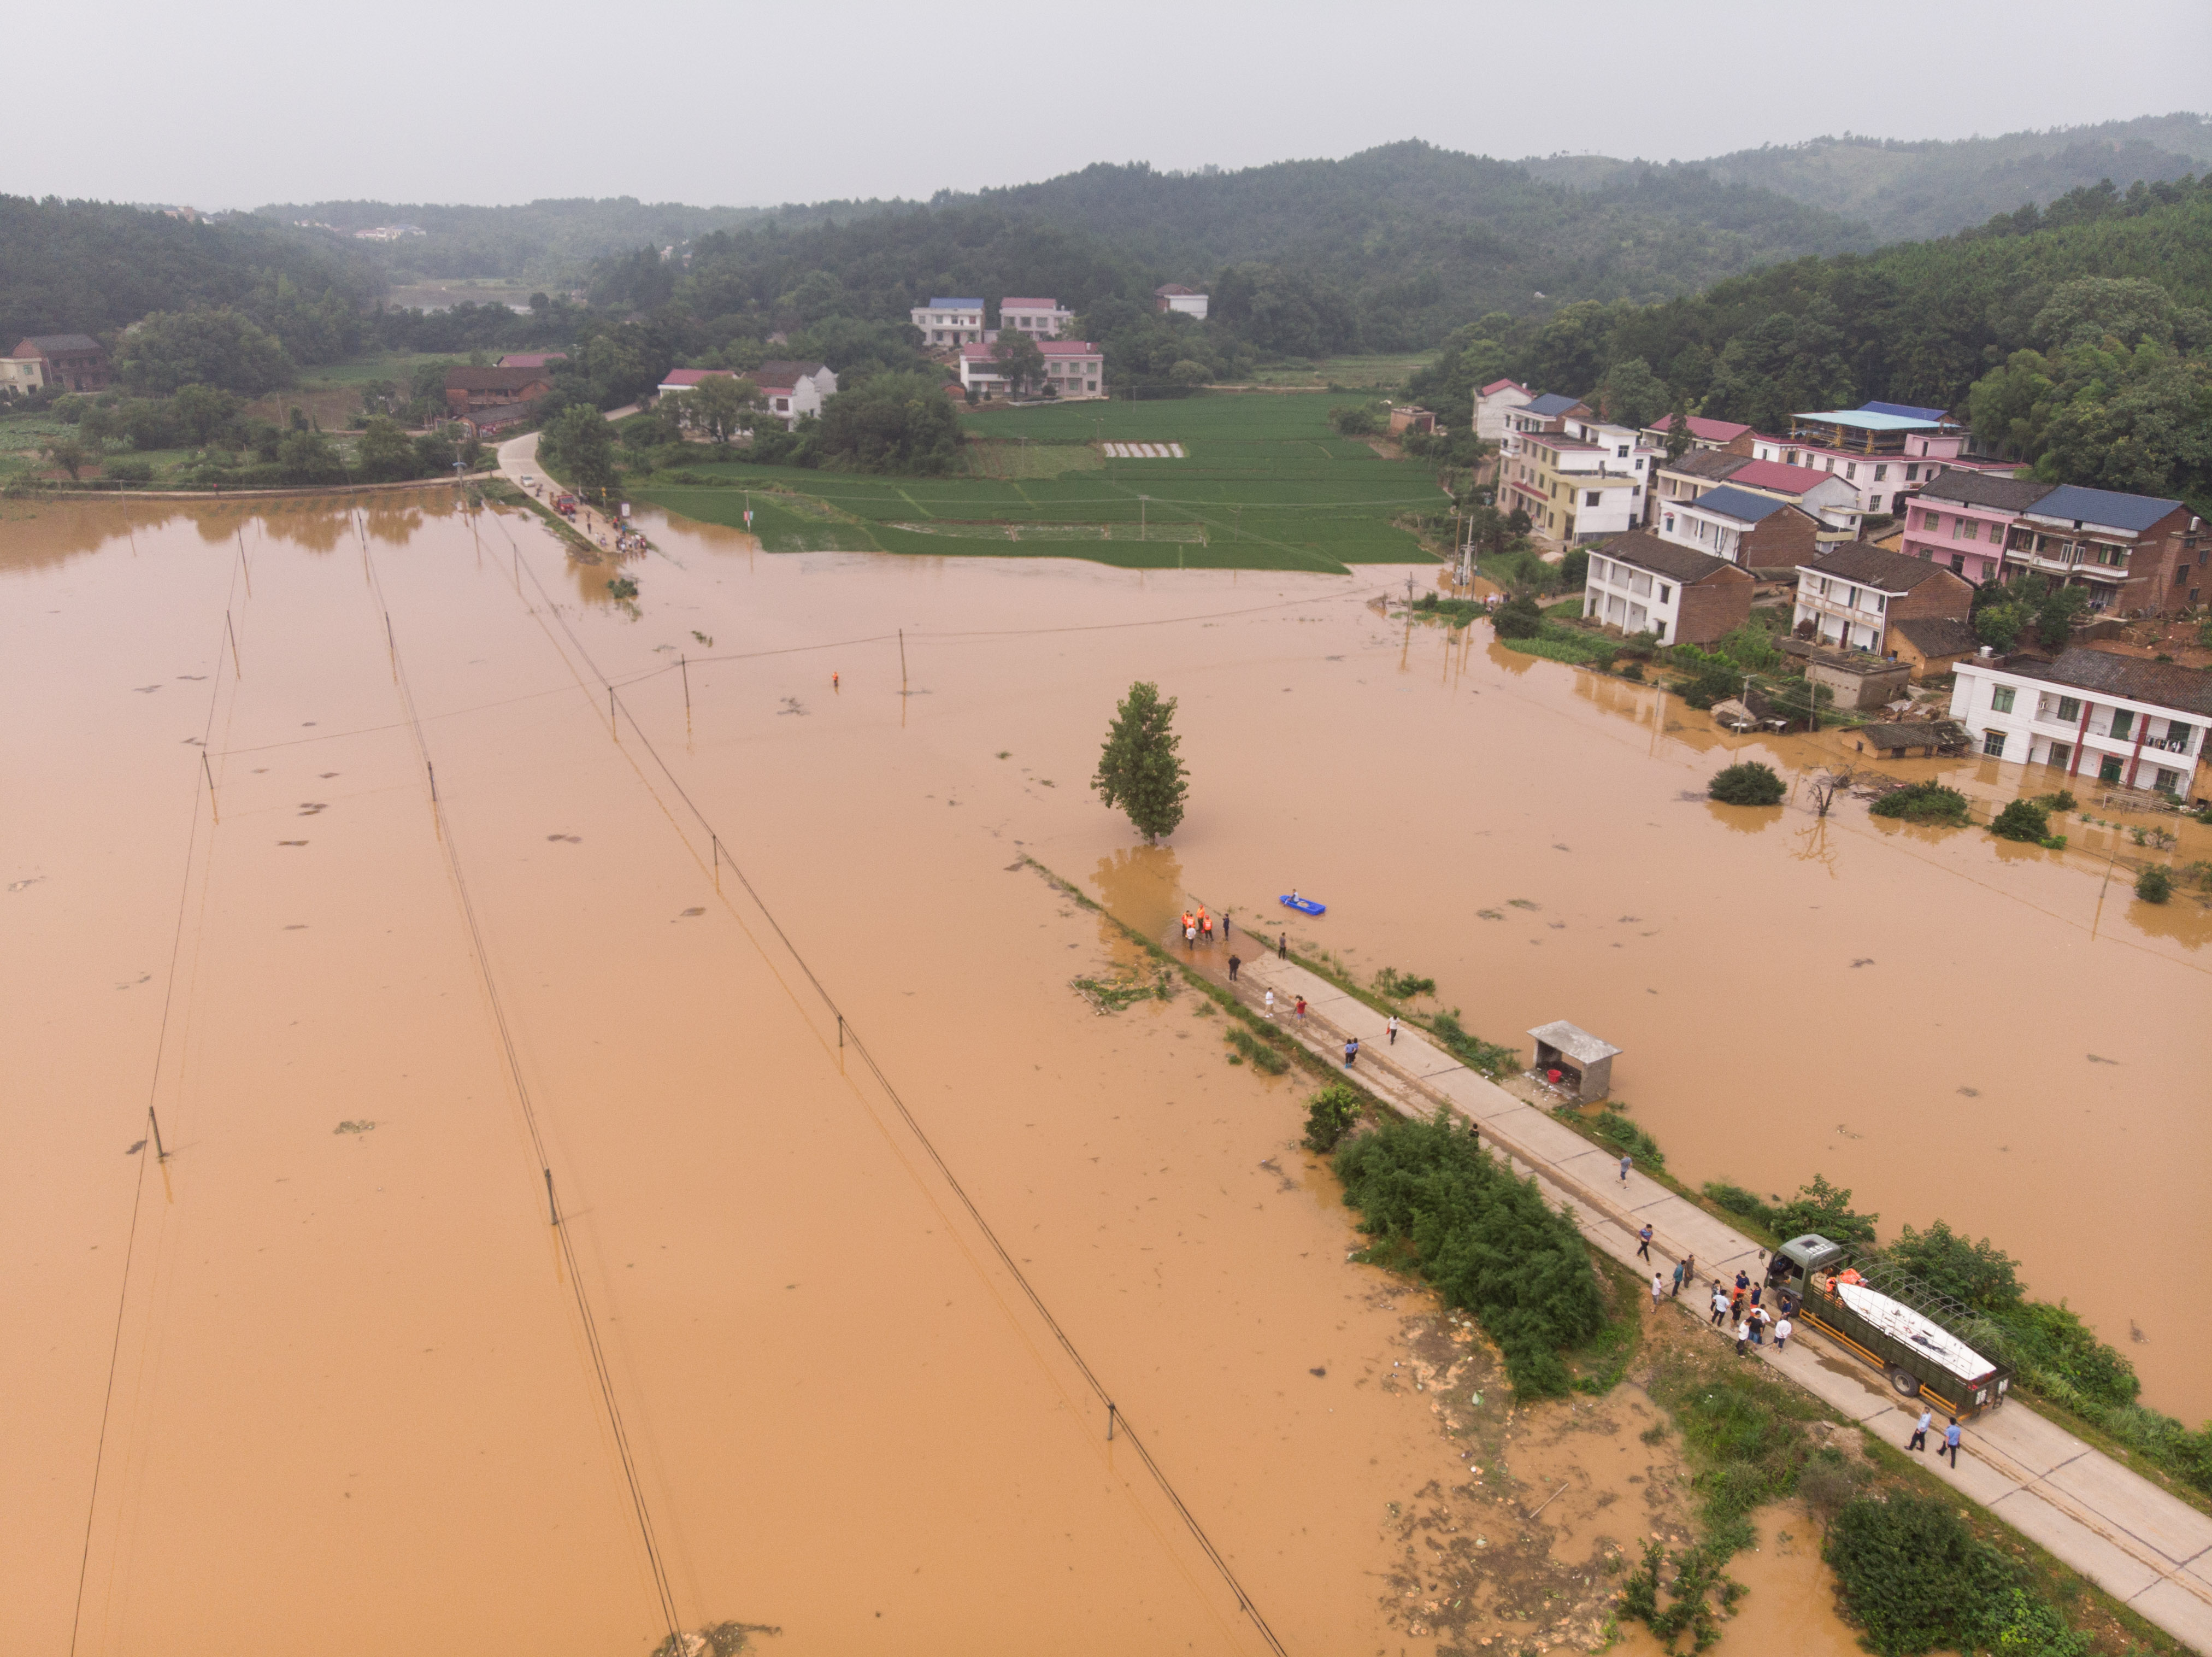
[[[2212,927],[2101,830],[1708,805],[1836,739],[1389,619],[1402,571],[648,531],[617,602],[431,493],[0,513],[9,1648],[1265,1650],[1239,1588],[1290,1650],[1595,1626],[1593,1560],[1686,1522],[1635,1422],[1520,1422],[1557,1529],[1464,1564],[1502,1387],[1405,1383],[1451,1327],[1347,1263],[1303,1088],[1190,993],[1095,1011],[1128,949],[1024,858],[1146,929],[1318,896],[1303,947],[1619,1044],[1677,1175],[1989,1232],[2212,1411]],[[1133,679],[1181,699],[1172,845],[1086,790]]]

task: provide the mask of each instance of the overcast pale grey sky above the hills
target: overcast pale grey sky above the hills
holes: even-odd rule
[[[77,0],[0,190],[259,206],[927,197],[1425,137],[1683,159],[2205,108],[2205,0]],[[29,40],[18,40],[40,62]],[[64,113],[66,111],[66,113]]]

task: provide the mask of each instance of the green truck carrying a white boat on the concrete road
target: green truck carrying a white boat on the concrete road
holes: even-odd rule
[[[1796,1301],[1798,1319],[1885,1372],[1898,1398],[1924,1398],[1964,1420],[2011,1392],[2011,1367],[1955,1334],[1973,1319],[1966,1305],[1893,1265],[1854,1263],[1843,1243],[1792,1237],[1767,1263],[1767,1294]]]

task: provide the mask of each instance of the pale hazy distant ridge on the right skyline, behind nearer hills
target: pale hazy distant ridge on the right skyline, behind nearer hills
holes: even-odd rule
[[[2208,164],[2212,119],[2179,113],[1955,142],[1845,133],[1679,161],[1663,173],[1703,173],[1721,184],[1774,190],[1863,219],[1882,241],[1924,241],[1978,226],[1993,212],[2055,201],[2099,179],[2126,188],[2135,179],[2154,184],[2203,173]],[[1562,155],[1524,166],[1540,179],[1610,188],[1644,164]]]

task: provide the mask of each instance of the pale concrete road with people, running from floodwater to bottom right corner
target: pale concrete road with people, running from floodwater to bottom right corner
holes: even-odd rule
[[[1347,1035],[1360,1040],[1356,1075],[1409,1115],[1438,1106],[1480,1124],[1482,1139],[1511,1157],[1515,1173],[1535,1175],[1553,1201],[1571,1203],[1584,1234],[1613,1259],[1672,1281],[1674,1261],[1694,1257],[1697,1281],[1672,1305],[1703,1323],[1712,1279],[1736,1268],[1759,1279],[1765,1250],[1666,1186],[1630,1173],[1619,1155],[1513,1097],[1495,1082],[1405,1026],[1396,1044],[1374,1011],[1318,973],[1276,958],[1265,938],[1239,936],[1237,991],[1254,1009],[1274,991],[1274,1020],[1312,1051],[1343,1062]],[[1194,951],[1199,965],[1225,971],[1230,949]],[[1305,1018],[1292,1009],[1305,996]],[[1637,1259],[1637,1230],[1650,1226],[1652,1263]],[[1913,1416],[1887,1383],[1812,1327],[1801,1325],[1787,1352],[1752,1354],[1814,1392],[1871,1434],[1905,1445]],[[1918,1414],[1918,1411],[1913,1411]],[[2168,1496],[2150,1480],[2081,1442],[2022,1403],[1966,1425],[1958,1471],[1931,1460],[1931,1471],[1960,1496],[1980,1502],[2022,1535],[2057,1555],[2115,1599],[2166,1628],[2194,1650],[2212,1653],[2212,1515]]]

